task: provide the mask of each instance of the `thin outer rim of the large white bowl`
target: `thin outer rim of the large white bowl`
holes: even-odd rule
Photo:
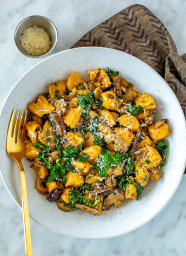
[[[58,52],[58,53],[56,53],[56,54],[52,54],[51,56],[48,56],[48,57],[45,58],[44,60],[42,60],[42,61],[38,62],[37,64],[35,64],[35,65],[34,65],[33,67],[31,67],[25,74],[23,74],[23,75],[20,77],[20,79],[15,83],[15,85],[13,86],[13,88],[11,89],[11,91],[9,92],[9,94],[7,95],[7,98],[6,98],[6,100],[4,101],[3,106],[2,106],[2,108],[1,108],[1,110],[0,110],[0,116],[1,116],[1,114],[2,114],[2,111],[3,111],[3,109],[4,109],[5,104],[6,104],[6,102],[7,102],[7,99],[8,99],[8,97],[10,96],[10,94],[12,93],[13,89],[17,86],[17,84],[21,81],[21,79],[22,79],[27,73],[29,73],[34,67],[36,67],[37,65],[39,65],[41,62],[45,61],[46,59],[49,59],[49,58],[53,57],[54,55],[61,54],[61,53],[63,53],[63,52],[67,52],[67,51],[78,50],[78,49],[80,49],[80,48],[103,48],[103,49],[109,49],[109,50],[121,52],[121,53],[123,53],[123,54],[127,54],[127,53],[125,53],[125,52],[122,52],[122,51],[119,51],[119,50],[116,50],[116,49],[112,49],[112,48],[108,48],[108,47],[76,47],[76,48],[70,48],[70,49],[67,49],[67,50],[64,50],[64,51],[60,51],[60,52]],[[130,56],[131,56],[131,54],[127,54],[127,55],[130,55]],[[133,55],[132,55],[132,56],[133,56]],[[133,56],[133,58],[135,58],[135,59],[137,59],[137,60],[140,60],[140,59],[138,59],[138,58],[136,58],[136,57],[134,57],[134,56]],[[140,60],[140,61],[141,61],[141,60]],[[146,66],[150,67],[150,66],[149,66],[148,64],[146,64],[144,61],[142,61],[142,62],[143,62]],[[163,78],[162,76],[160,76],[160,74],[158,74],[152,67],[150,67],[150,68],[152,69],[153,72],[155,72],[155,73],[160,77],[160,79],[162,79],[162,80],[167,84],[168,88],[169,88],[169,89],[171,90],[171,92],[174,94],[173,90],[170,88],[170,86],[169,86],[168,83],[164,80],[164,78]],[[182,113],[182,116],[183,116],[183,120],[184,120],[184,123],[185,123],[185,128],[186,128],[186,119],[185,119],[183,110],[182,110],[181,105],[180,105],[180,103],[179,103],[179,101],[178,101],[178,98],[176,97],[175,94],[174,94],[174,96],[175,96],[175,99],[176,99],[176,101],[177,101],[177,103],[178,103],[178,105],[179,105],[179,108],[180,108],[180,110],[181,110],[181,113]],[[148,220],[146,220],[145,222],[141,223],[141,224],[138,225],[137,227],[135,227],[135,228],[133,228],[133,229],[131,229],[131,230],[125,231],[125,232],[121,232],[120,234],[117,234],[117,235],[114,235],[114,236],[106,236],[106,237],[102,237],[102,236],[101,236],[101,237],[96,237],[96,238],[95,238],[95,237],[86,237],[86,238],[85,238],[85,237],[73,236],[73,235],[70,235],[70,236],[69,236],[69,235],[66,235],[65,233],[61,233],[61,232],[59,232],[59,231],[57,231],[57,230],[48,228],[47,225],[45,225],[45,224],[43,224],[43,223],[41,224],[41,223],[40,223],[38,220],[36,220],[33,216],[30,216],[30,217],[31,217],[35,222],[37,222],[37,223],[40,224],[41,226],[45,227],[46,229],[49,229],[49,230],[51,230],[51,231],[53,231],[53,232],[55,232],[55,233],[58,233],[58,234],[60,234],[60,235],[62,235],[62,236],[67,236],[67,237],[72,237],[72,238],[78,238],[78,239],[90,239],[90,240],[95,240],[95,239],[107,239],[107,238],[112,238],[112,237],[121,236],[121,235],[127,234],[127,233],[129,233],[129,232],[132,232],[133,230],[138,229],[138,228],[142,227],[143,225],[145,225],[147,222],[151,221],[151,220],[152,220],[155,216],[157,216],[157,215],[159,214],[159,212],[167,205],[167,203],[168,203],[168,202],[171,200],[171,198],[173,197],[175,191],[178,189],[179,183],[181,182],[181,179],[182,179],[182,177],[183,177],[184,170],[185,170],[185,168],[186,168],[186,156],[185,156],[185,162],[184,162],[184,165],[183,165],[183,166],[184,166],[184,167],[183,167],[183,170],[182,170],[182,172],[181,172],[179,181],[178,181],[178,183],[177,183],[175,189],[173,190],[173,193],[170,195],[170,197],[169,197],[168,200],[166,201],[166,203],[165,203],[153,216],[151,216]],[[1,178],[2,178],[2,180],[3,180],[3,182],[4,182],[4,184],[5,184],[5,187],[6,187],[7,191],[8,191],[8,193],[9,193],[10,196],[13,198],[13,195],[11,194],[11,192],[9,191],[9,189],[7,188],[7,184],[6,184],[6,182],[5,182],[4,178],[3,178],[3,175],[2,175],[2,173],[1,173],[1,170],[0,170],[0,175],[1,175]],[[14,201],[14,202],[18,205],[18,207],[22,210],[22,207],[21,207],[21,205],[19,204],[19,202],[17,202],[14,198],[13,198],[13,201]]]

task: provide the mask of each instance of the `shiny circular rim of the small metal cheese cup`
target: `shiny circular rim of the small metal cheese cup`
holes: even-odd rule
[[[50,48],[49,51],[47,51],[45,54],[42,54],[40,56],[33,56],[33,55],[25,53],[24,51],[21,51],[20,47],[18,46],[17,40],[16,40],[16,34],[17,34],[18,29],[20,28],[20,25],[23,24],[26,20],[29,20],[31,18],[41,18],[43,20],[46,20],[48,23],[50,23],[52,25],[52,27],[53,27],[53,29],[55,31],[55,34],[56,34],[56,40],[55,40],[55,43],[54,43],[53,47]],[[58,43],[58,39],[59,39],[58,30],[57,30],[56,26],[54,25],[54,23],[52,22],[52,20],[46,18],[45,16],[41,16],[41,15],[32,15],[32,16],[28,16],[25,19],[21,20],[20,23],[15,28],[15,32],[14,32],[14,42],[15,42],[15,45],[17,46],[18,50],[21,52],[21,54],[23,54],[23,55],[25,55],[25,56],[27,56],[29,58],[35,58],[35,59],[36,58],[44,57],[47,54],[51,53],[53,51],[53,49],[56,47],[56,45]]]

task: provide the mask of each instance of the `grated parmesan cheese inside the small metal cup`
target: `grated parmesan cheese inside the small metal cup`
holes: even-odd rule
[[[45,54],[51,45],[49,34],[42,27],[27,27],[20,37],[21,46],[30,55]]]

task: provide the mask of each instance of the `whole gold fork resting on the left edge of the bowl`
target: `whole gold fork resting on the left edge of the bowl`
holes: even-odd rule
[[[15,109],[10,118],[10,123],[8,126],[7,132],[7,153],[8,155],[17,163],[19,172],[20,172],[20,188],[21,188],[21,198],[22,198],[22,210],[23,210],[23,226],[24,226],[24,236],[25,236],[25,249],[27,255],[32,255],[32,242],[31,242],[31,233],[30,233],[30,221],[29,221],[29,212],[28,212],[28,199],[27,199],[27,185],[25,171],[21,162],[21,159],[25,155],[25,129],[26,129],[26,120],[27,112],[23,121],[22,133],[21,131],[21,122],[23,118],[23,110],[20,116],[20,122],[18,125],[19,112],[15,120],[15,126],[13,128],[13,119]],[[13,132],[13,135],[12,135]]]

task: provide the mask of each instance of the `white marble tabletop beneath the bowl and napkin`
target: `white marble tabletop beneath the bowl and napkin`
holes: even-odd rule
[[[148,7],[173,36],[178,53],[186,53],[185,0],[1,0],[0,108],[15,82],[41,60],[27,58],[15,47],[13,34],[20,20],[34,14],[51,19],[59,31],[59,43],[53,52],[57,53],[71,47],[100,22],[136,3]],[[0,256],[24,256],[22,212],[1,178],[0,198]],[[33,256],[185,256],[186,176],[158,216],[123,236],[74,239],[55,234],[32,219],[30,222]]]

